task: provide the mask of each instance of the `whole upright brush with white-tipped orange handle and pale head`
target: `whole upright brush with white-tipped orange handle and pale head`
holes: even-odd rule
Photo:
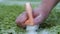
[[[28,15],[28,20],[25,22],[26,26],[26,34],[37,34],[36,30],[38,29],[38,25],[34,25],[33,15],[32,15],[32,7],[30,2],[26,3],[26,11]]]

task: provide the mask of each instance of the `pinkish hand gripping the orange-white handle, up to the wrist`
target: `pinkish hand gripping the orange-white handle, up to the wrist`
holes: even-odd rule
[[[34,25],[41,24],[48,15],[47,11],[42,11],[39,8],[33,10],[32,13],[33,13],[33,18],[34,18]],[[28,19],[28,15],[25,11],[17,17],[16,23],[19,27],[24,28],[26,26],[26,24],[24,24],[24,23],[27,19]]]

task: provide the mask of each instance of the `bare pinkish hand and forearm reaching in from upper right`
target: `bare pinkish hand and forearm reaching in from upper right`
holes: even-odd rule
[[[54,8],[54,6],[57,5],[59,1],[60,0],[42,0],[41,5],[39,5],[37,8],[33,9],[32,11],[33,17],[34,17],[34,20],[33,20],[34,24],[38,25],[43,23],[43,21],[48,17],[51,10]],[[16,18],[17,25],[19,27],[24,28],[26,26],[26,24],[24,23],[28,18],[29,17],[26,11],[23,12]]]

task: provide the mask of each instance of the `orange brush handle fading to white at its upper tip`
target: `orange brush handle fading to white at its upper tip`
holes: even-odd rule
[[[32,7],[31,7],[31,4],[29,2],[26,3],[26,11],[27,11],[29,19],[25,22],[25,24],[34,25],[33,15],[32,15]]]

